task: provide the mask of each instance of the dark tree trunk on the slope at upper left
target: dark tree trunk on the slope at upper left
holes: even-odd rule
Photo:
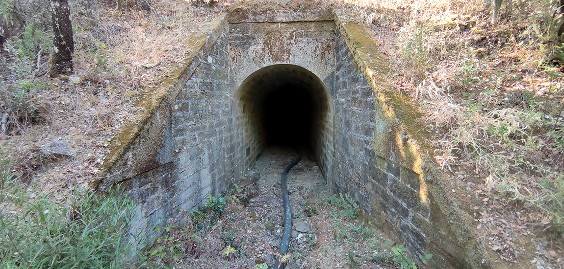
[[[68,0],[51,0],[54,52],[51,56],[51,77],[72,73],[74,41]]]

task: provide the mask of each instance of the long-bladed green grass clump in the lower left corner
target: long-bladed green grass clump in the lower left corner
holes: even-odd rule
[[[135,212],[119,190],[38,195],[0,164],[1,268],[124,268]]]

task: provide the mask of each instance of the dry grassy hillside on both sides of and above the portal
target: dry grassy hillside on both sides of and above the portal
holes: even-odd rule
[[[39,68],[29,67],[35,62],[19,62],[25,75],[2,71],[0,87],[8,89],[0,92],[2,100],[13,99],[18,80],[47,86],[34,86],[17,102],[2,103],[0,113],[9,116],[10,124],[8,133],[0,134],[0,145],[10,153],[16,172],[33,178],[44,192],[69,193],[99,176],[108,141],[126,120],[134,120],[135,100],[179,66],[192,50],[190,39],[202,34],[200,25],[225,6],[332,6],[372,30],[390,65],[396,66],[390,81],[426,113],[425,127],[437,147],[430,154],[457,175],[448,183],[472,181],[500,204],[519,201],[500,208],[480,204],[484,196],[470,201],[485,207],[484,212],[537,214],[532,218],[543,221],[528,226],[531,231],[550,226],[546,220],[555,212],[548,200],[562,203],[557,194],[564,184],[564,158],[557,139],[564,129],[564,100],[562,63],[554,57],[558,47],[550,29],[543,28],[553,21],[554,6],[545,5],[548,0],[514,0],[512,10],[502,8],[497,24],[491,24],[491,11],[481,0],[224,0],[214,7],[153,2],[151,12],[101,5],[88,16],[75,14],[76,69],[68,79],[43,76],[46,55]],[[2,60],[4,70],[19,61],[13,55]],[[55,141],[66,141],[72,157],[55,156]],[[500,255],[515,258],[514,253],[518,246]],[[527,257],[536,254],[531,255]]]

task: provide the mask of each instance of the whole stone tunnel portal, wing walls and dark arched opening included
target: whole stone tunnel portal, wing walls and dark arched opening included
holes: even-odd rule
[[[281,203],[281,192],[272,187],[296,157],[294,147],[305,157],[288,177],[294,208],[321,199],[319,187],[330,187],[413,254],[436,253],[437,268],[469,259],[480,267],[479,244],[465,236],[472,226],[462,223],[471,218],[445,203],[444,187],[433,183],[449,176],[426,159],[420,111],[385,83],[390,69],[371,33],[333,11],[313,20],[306,11],[267,13],[236,8],[210,23],[213,29],[194,39],[201,47],[189,52],[186,65],[168,86],[149,91],[140,114],[112,138],[105,172],[92,184],[109,191],[123,182],[140,205],[132,231],[151,238],[159,235],[156,225],[235,183],[254,185],[257,203],[269,201],[268,207],[249,209],[261,208],[261,219],[271,221],[283,209],[274,203]],[[269,241],[272,235],[255,234]]]

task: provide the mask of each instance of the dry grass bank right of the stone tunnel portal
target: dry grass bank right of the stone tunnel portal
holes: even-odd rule
[[[459,196],[476,213],[512,219],[514,227],[527,227],[524,234],[554,237],[544,231],[561,225],[564,156],[557,139],[564,130],[564,93],[553,32],[543,32],[552,20],[548,2],[513,1],[512,12],[505,6],[495,25],[482,1],[382,2],[387,5],[367,5],[377,15],[368,15],[365,25],[398,66],[396,89],[426,113],[425,128],[437,147],[433,157],[453,172],[448,184],[462,190],[466,182],[477,184],[475,193]],[[516,214],[536,223],[522,226]],[[478,229],[523,233],[512,225]],[[484,236],[484,247],[521,266],[559,268],[557,258],[541,254],[549,250],[526,252],[526,240],[507,238]],[[550,251],[561,257],[561,249]]]

